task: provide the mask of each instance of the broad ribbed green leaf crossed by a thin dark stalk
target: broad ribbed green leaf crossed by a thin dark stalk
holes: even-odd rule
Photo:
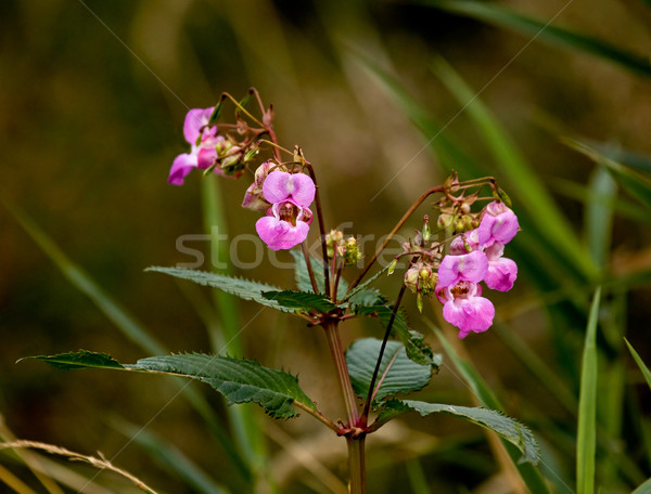
[[[346,350],[350,384],[361,398],[366,398],[369,393],[381,347],[381,340],[365,338],[355,341]],[[438,372],[438,367],[417,364],[407,358],[405,347],[400,342],[387,341],[378,373],[373,399],[380,401],[388,395],[418,391],[427,386],[433,370]]]

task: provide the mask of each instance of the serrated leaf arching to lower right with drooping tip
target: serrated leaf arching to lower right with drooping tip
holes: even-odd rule
[[[387,418],[407,411],[418,412],[422,417],[435,413],[454,415],[492,430],[515,445],[522,452],[520,463],[538,464],[538,443],[532,431],[518,420],[507,417],[501,412],[483,407],[425,403],[412,400],[392,400],[384,405],[385,411],[380,414],[378,420],[385,421]]]

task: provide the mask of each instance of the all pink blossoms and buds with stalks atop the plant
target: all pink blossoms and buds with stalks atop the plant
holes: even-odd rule
[[[244,194],[242,206],[265,211],[266,214],[257,220],[255,229],[268,248],[291,249],[307,238],[312,222],[314,214],[309,208],[317,197],[312,180],[315,173],[301,147],[295,146],[292,152],[278,144],[271,125],[272,108],[263,106],[254,89],[248,95],[253,94],[259,104],[260,119],[245,108],[246,98],[237,102],[226,93],[215,107],[188,112],[183,135],[190,144],[190,153],[176,157],[168,181],[182,185],[186,176],[194,168],[233,178],[250,171],[253,183]],[[226,99],[230,99],[237,107],[234,123],[217,123],[221,103]],[[266,158],[252,171],[250,166],[265,145],[272,157]],[[291,155],[291,158],[282,161],[282,153]],[[497,200],[488,204],[481,212],[473,212],[472,206],[475,203],[486,200],[486,197],[481,196],[482,187],[486,185],[490,186]],[[510,205],[510,199],[490,177],[460,182],[457,174],[452,173],[443,185],[433,187],[421,196],[350,288],[355,288],[361,281],[404,221],[433,193],[442,194],[435,204],[438,217],[434,222],[442,237],[437,240],[431,238],[430,219],[425,216],[422,232],[401,244],[404,252],[392,263],[390,274],[395,270],[399,258],[408,257],[409,268],[403,283],[417,294],[418,309],[422,312],[424,296],[436,296],[443,303],[445,320],[457,326],[459,337],[464,338],[470,333],[488,329],[495,316],[495,308],[482,296],[480,283],[483,282],[490,289],[508,291],[518,276],[515,262],[503,257],[505,245],[519,230],[518,218],[507,206]],[[316,206],[319,212],[318,200]],[[327,261],[324,277],[329,277],[330,269],[335,273],[331,278],[332,285],[326,288],[326,292],[335,294],[343,269],[356,265],[362,256],[354,237],[345,239],[339,230],[327,234],[321,223],[319,230],[322,256]],[[443,233],[447,238],[443,238]],[[444,255],[448,249],[449,253]],[[316,285],[315,280],[312,285]]]

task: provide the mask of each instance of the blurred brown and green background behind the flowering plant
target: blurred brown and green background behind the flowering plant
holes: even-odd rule
[[[315,165],[327,222],[352,222],[352,234],[386,233],[450,168],[463,178],[493,174],[524,219],[510,252],[521,274],[511,292],[494,297],[505,325],[468,338],[464,351],[505,411],[539,434],[541,471],[554,492],[573,492],[587,303],[605,283],[598,483],[603,492],[630,492],[651,476],[649,388],[622,342],[626,335],[651,362],[651,204],[647,182],[629,179],[651,169],[649,26],[642,0],[3,0],[0,194],[168,351],[209,352],[215,333],[195,311],[209,304],[209,292],[142,272],[188,262],[177,238],[204,232],[200,174],[183,187],[166,183],[174,157],[186,152],[189,108],[256,87],[273,104],[281,143],[299,144]],[[472,114],[480,101],[489,120]],[[577,152],[560,138],[592,151]],[[247,186],[246,180],[217,183],[220,227],[232,235],[253,233],[257,214],[239,207]],[[416,227],[417,217],[409,224]],[[244,459],[238,467],[237,455],[177,398],[173,380],[15,365],[25,355],[78,348],[120,362],[149,352],[62,276],[8,208],[0,208],[0,413],[13,433],[85,454],[101,451],[161,492],[219,492],[217,484],[230,492],[341,492],[344,442],[321,435],[309,417],[276,424],[252,406],[244,420],[257,424],[267,461]],[[208,255],[207,243],[202,247]],[[293,283],[290,270],[268,262],[235,274]],[[397,292],[398,276],[384,283],[387,295]],[[406,307],[413,327],[439,350],[412,297]],[[326,411],[341,413],[322,335],[270,311],[252,320],[256,312],[247,303],[231,310],[243,327],[243,355],[298,373]],[[425,308],[431,320],[438,312],[436,303]],[[222,324],[217,316],[213,329]],[[381,337],[380,326],[366,322],[346,332],[348,342]],[[233,420],[209,389],[196,391],[221,422]],[[472,403],[451,365],[423,393]],[[214,486],[197,486],[153,453],[171,450],[124,447],[131,437],[126,422],[174,444]],[[452,419],[408,419],[376,435],[371,492],[513,492],[483,433]],[[302,463],[296,455],[305,451],[311,459]],[[0,465],[36,485],[14,456],[2,453]],[[256,477],[265,480],[252,487]],[[120,482],[104,473],[95,481],[129,492]]]

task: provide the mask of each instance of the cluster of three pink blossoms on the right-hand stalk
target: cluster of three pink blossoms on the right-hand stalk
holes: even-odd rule
[[[435,291],[445,320],[459,328],[459,338],[490,327],[495,316],[493,303],[482,297],[484,282],[488,288],[508,291],[518,276],[518,265],[502,257],[505,245],[518,233],[518,217],[502,203],[484,208],[480,225],[450,245],[450,255],[438,266]]]

